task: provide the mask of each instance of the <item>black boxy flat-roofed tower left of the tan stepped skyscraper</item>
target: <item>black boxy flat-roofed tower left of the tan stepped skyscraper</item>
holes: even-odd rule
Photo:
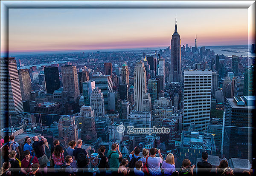
[[[53,94],[55,90],[58,90],[61,87],[58,67],[44,67],[44,77],[47,94]]]

